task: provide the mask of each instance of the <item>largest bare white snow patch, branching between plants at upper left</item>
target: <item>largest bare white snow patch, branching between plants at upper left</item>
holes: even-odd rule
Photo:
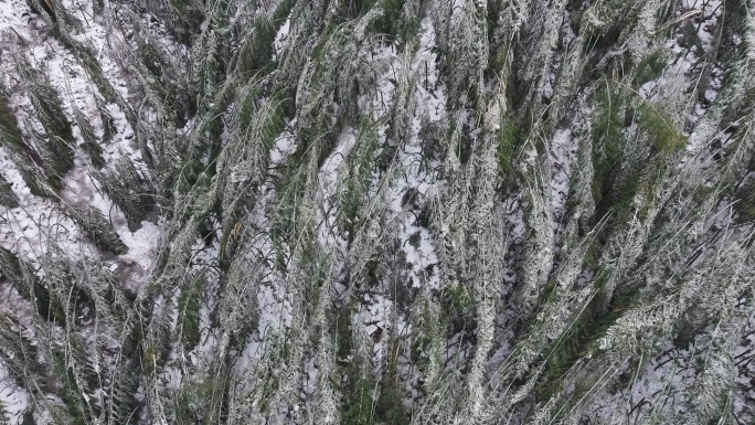
[[[63,4],[66,10],[86,22],[82,31],[72,33],[72,36],[92,49],[106,79],[120,96],[128,98],[127,83],[121,73],[121,65],[118,64],[121,62],[119,55],[123,54],[123,39],[116,39],[113,17],[93,19],[91,2],[82,4],[78,0],[66,0]],[[108,28],[103,24],[107,24]],[[60,203],[40,199],[30,193],[9,155],[0,149],[0,170],[11,182],[21,204],[18,209],[4,211],[3,220],[0,221],[0,243],[32,261],[43,255],[51,243],[74,258],[96,256],[97,249],[94,245],[79,234],[77,226],[64,214],[66,205],[92,205],[111,220],[116,232],[129,247],[128,254],[120,256],[118,262],[128,264],[126,283],[139,285],[151,270],[157,243],[162,232],[161,226],[145,222],[139,231],[129,232],[123,213],[102,195],[99,188],[88,174],[87,156],[81,148],[84,140],[74,119],[74,106],[89,120],[98,137],[105,131],[100,113],[111,118],[116,134],[109,144],[102,144],[108,169],[111,169],[121,157],[128,157],[139,167],[140,153],[131,146],[134,129],[128,124],[126,114],[116,104],[104,105],[104,110],[97,108],[98,104],[102,105],[97,102],[102,99],[97,87],[73,52],[51,38],[44,26],[43,21],[33,19],[28,4],[22,0],[9,0],[0,8],[0,36],[13,42],[18,39],[17,33],[22,36],[28,46],[20,52],[26,54],[32,66],[49,78],[61,97],[61,106],[72,123],[76,139],[74,169],[64,178],[65,189],[61,193]],[[17,74],[18,70],[13,67],[12,61],[6,61],[6,57],[7,51],[3,52],[3,61],[0,61],[0,68],[6,74],[7,84],[12,87],[18,83],[10,83],[18,82],[18,78],[10,78],[9,75]],[[12,103],[17,106],[18,115],[26,115],[24,110],[31,108],[31,103],[22,95],[14,95]],[[35,119],[30,119],[29,124],[36,130],[42,130]]]

